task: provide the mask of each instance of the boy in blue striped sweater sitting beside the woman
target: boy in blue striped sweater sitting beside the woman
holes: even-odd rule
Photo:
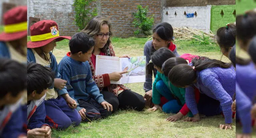
[[[70,52],[62,58],[58,67],[62,79],[67,81],[69,95],[79,103],[76,110],[82,121],[108,117],[113,107],[103,99],[88,63],[94,49],[94,40],[86,33],[76,33],[69,41],[69,47]]]

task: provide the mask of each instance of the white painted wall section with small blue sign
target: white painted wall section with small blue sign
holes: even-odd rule
[[[170,23],[173,27],[193,27],[209,32],[211,21],[211,5],[196,7],[164,7],[162,10],[163,22]],[[168,15],[166,15],[168,12]],[[175,15],[175,12],[177,15]],[[197,16],[187,18],[184,15],[189,13],[197,13]]]

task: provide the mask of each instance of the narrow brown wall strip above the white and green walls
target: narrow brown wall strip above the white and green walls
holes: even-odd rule
[[[236,0],[166,0],[165,7],[230,5],[230,4],[236,4]]]

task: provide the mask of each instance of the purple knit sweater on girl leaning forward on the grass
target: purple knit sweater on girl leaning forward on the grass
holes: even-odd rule
[[[207,68],[196,72],[197,82],[193,84],[213,99],[220,101],[225,117],[225,123],[232,123],[232,97],[236,91],[236,72],[232,66],[230,68]],[[198,113],[197,103],[192,86],[186,87],[186,104],[193,115]],[[210,110],[210,109],[209,109]]]

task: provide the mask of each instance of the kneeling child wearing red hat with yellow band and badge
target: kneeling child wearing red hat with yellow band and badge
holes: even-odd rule
[[[55,73],[54,83],[46,92],[45,109],[46,123],[56,129],[65,129],[74,123],[78,126],[81,117],[76,110],[76,101],[68,95],[66,81],[60,79],[58,64],[52,54],[57,41],[70,39],[68,36],[59,36],[58,25],[52,20],[42,20],[30,27],[31,41],[28,42],[27,60],[36,62]]]

